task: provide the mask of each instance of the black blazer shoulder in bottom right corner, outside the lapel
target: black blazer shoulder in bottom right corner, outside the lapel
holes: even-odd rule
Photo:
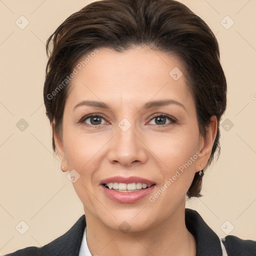
[[[222,239],[229,256],[256,256],[256,241],[243,240],[234,235],[227,235]]]

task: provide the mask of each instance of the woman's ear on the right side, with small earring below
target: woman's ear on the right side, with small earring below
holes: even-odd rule
[[[203,138],[202,136],[200,137],[200,142],[199,142],[199,150],[201,154],[198,156],[198,165],[196,167],[196,172],[203,169],[210,157],[211,149],[216,137],[217,133],[217,118],[216,115],[212,115],[210,117],[210,124],[206,128],[206,136]]]

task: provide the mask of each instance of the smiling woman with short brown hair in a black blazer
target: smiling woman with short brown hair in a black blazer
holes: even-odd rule
[[[185,209],[219,149],[226,80],[215,36],[172,0],[103,0],[47,41],[53,150],[84,214],[8,255],[256,255]]]

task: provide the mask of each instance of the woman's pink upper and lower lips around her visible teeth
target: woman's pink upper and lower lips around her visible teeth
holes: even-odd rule
[[[144,189],[139,189],[138,191],[135,192],[119,192],[115,191],[113,189],[106,188],[104,186],[105,183],[109,182],[118,182],[118,183],[145,183],[147,185],[151,185],[150,187],[144,188]],[[120,203],[132,203],[132,202],[137,202],[141,200],[143,197],[146,195],[150,194],[151,191],[155,187],[155,182],[152,180],[142,178],[142,177],[137,177],[137,176],[131,176],[131,177],[123,177],[123,176],[115,176],[115,177],[109,177],[105,178],[100,181],[100,186],[103,189],[103,192],[105,195],[112,199],[113,201],[120,202]]]

